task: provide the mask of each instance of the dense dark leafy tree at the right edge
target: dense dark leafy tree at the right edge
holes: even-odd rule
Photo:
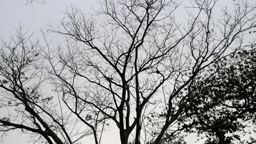
[[[216,73],[208,72],[194,86],[186,114],[199,133],[206,133],[208,143],[241,140],[246,125],[256,126],[256,51],[239,51],[209,71]]]

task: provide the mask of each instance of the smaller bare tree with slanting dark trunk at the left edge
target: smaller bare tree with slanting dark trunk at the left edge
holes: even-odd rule
[[[20,129],[31,134],[31,141],[46,143],[76,143],[92,134],[91,130],[79,128],[77,118],[65,111],[58,97],[47,93],[48,79],[44,57],[38,41],[23,33],[22,26],[10,42],[1,41],[0,132]]]

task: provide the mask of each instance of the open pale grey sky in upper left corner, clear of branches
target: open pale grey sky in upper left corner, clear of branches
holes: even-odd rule
[[[45,27],[46,23],[52,22],[57,25],[63,17],[63,13],[68,6],[75,5],[83,9],[85,12],[91,11],[91,6],[96,1],[79,1],[79,0],[54,0],[47,4],[23,5],[21,2],[26,0],[1,0],[0,1],[0,37],[9,37],[10,32],[14,32],[14,26],[19,23],[23,24],[30,32],[39,31],[41,27]]]

